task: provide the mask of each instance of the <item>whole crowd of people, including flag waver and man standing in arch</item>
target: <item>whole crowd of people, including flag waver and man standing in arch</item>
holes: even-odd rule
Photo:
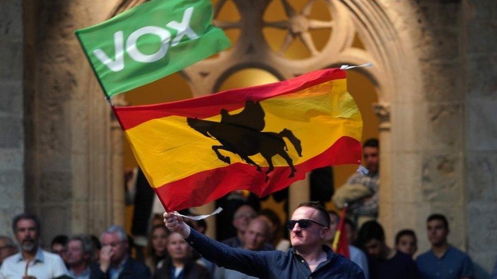
[[[427,217],[428,251],[416,254],[418,238],[411,229],[397,233],[394,247],[387,244],[376,221],[378,141],[366,141],[363,151],[369,172],[354,174],[333,198],[338,208],[350,209],[341,232],[350,259],[332,251],[341,218],[319,202],[300,204],[285,223],[270,209],[242,203],[232,214],[236,232],[220,242],[204,235],[204,220],[166,212],[149,222],[143,249],[122,227],[111,226],[99,237],[56,236],[47,252],[40,245],[39,219],[23,213],[12,221],[17,244],[0,236],[0,279],[473,278],[470,257],[448,242],[449,222],[442,214]]]

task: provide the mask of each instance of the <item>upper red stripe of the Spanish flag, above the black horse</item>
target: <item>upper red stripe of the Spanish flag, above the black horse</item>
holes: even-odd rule
[[[246,101],[262,101],[271,97],[291,94],[302,89],[335,79],[344,79],[345,71],[325,69],[307,73],[289,80],[227,90],[199,98],[156,105],[115,107],[114,112],[124,130],[141,123],[178,115],[191,118],[207,118],[219,114],[220,109],[232,111],[243,108]]]

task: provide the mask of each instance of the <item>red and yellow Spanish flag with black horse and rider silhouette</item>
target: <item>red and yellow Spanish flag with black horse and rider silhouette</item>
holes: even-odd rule
[[[234,190],[260,197],[314,169],[360,164],[362,118],[345,71],[185,101],[114,107],[150,185],[167,210]]]

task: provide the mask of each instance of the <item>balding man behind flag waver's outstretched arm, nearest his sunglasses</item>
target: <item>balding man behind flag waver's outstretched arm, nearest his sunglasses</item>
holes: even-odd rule
[[[264,251],[264,244],[268,240],[270,226],[262,218],[253,219],[248,225],[245,233],[245,241],[240,249],[251,251]],[[214,272],[216,279],[256,279],[236,270],[226,269],[224,267],[216,268]]]

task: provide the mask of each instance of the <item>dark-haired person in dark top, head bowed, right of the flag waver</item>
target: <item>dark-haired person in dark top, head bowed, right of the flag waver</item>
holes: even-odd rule
[[[369,257],[370,278],[419,278],[416,263],[406,254],[386,245],[383,228],[376,221],[364,223],[357,241]]]

